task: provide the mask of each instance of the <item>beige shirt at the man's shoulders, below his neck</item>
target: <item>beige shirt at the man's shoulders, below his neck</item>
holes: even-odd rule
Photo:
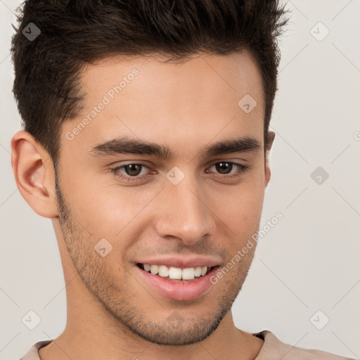
[[[252,335],[264,340],[264,345],[254,360],[355,360],[330,354],[330,352],[303,349],[285,344],[278,340],[269,330],[262,330]],[[20,360],[41,360],[39,349],[48,345],[51,341],[52,340],[44,340],[37,342]]]

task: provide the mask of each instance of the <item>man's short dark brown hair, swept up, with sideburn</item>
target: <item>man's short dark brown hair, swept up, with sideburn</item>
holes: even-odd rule
[[[113,54],[162,53],[179,60],[200,51],[248,49],[262,75],[266,144],[280,60],[276,38],[288,21],[278,1],[27,0],[18,12],[13,93],[25,131],[54,163],[61,125],[82,109],[79,71]],[[30,23],[40,30],[32,41],[23,33]]]

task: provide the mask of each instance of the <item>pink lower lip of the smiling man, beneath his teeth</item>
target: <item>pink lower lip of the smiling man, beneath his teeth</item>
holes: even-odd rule
[[[210,278],[219,266],[214,266],[208,274],[187,282],[167,280],[161,276],[148,273],[148,271],[140,269],[139,266],[135,267],[146,283],[162,296],[175,300],[193,300],[203,295],[210,289],[211,285],[214,285],[211,283]]]

